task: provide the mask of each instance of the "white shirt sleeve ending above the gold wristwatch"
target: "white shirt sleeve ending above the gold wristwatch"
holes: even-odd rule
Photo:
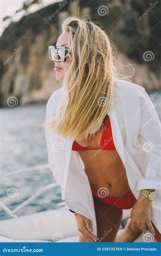
[[[161,124],[155,107],[143,88],[140,97],[141,125],[139,141],[146,153],[145,176],[138,181],[139,189],[161,189]]]

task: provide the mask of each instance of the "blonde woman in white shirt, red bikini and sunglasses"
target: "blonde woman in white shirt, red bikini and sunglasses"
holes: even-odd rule
[[[146,227],[161,242],[158,209],[151,205],[160,198],[160,122],[154,106],[146,104],[146,111],[137,111],[140,101],[148,99],[144,88],[118,80],[124,77],[118,74],[108,36],[90,19],[69,17],[62,31],[56,46],[49,46],[62,88],[47,103],[46,141],[49,166],[61,184],[62,199],[76,212],[79,242],[132,242]],[[151,125],[150,132],[146,124]],[[145,136],[152,136],[149,141],[157,145],[148,156],[148,164],[157,159],[151,179],[147,151],[141,148]],[[117,235],[122,210],[130,208],[131,219]]]

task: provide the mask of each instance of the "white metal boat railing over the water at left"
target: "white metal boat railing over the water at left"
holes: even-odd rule
[[[29,171],[38,171],[38,170],[42,170],[42,169],[47,169],[49,168],[49,165],[41,165],[41,166],[32,166],[32,167],[26,167],[22,170],[17,170],[17,171],[13,171],[13,172],[9,172],[9,173],[2,173],[0,175],[0,178],[2,177],[6,177],[6,176],[10,176],[10,175],[16,175],[19,173],[23,173],[23,172],[29,172]],[[41,189],[39,189],[38,191],[36,191],[33,195],[31,195],[28,199],[26,199],[25,201],[23,201],[22,203],[20,203],[15,209],[13,209],[12,211],[2,202],[0,202],[0,207],[11,217],[15,218],[18,217],[15,213],[18,212],[19,210],[21,210],[23,207],[25,207],[27,204],[29,204],[30,202],[32,202],[35,198],[37,198],[38,196],[40,196],[42,193],[44,193],[45,191],[47,191],[50,188],[53,187],[57,187],[59,186],[59,184],[57,182],[53,182],[51,184],[48,184],[47,186],[42,187]],[[58,207],[60,206],[64,206],[65,202],[60,202],[57,204]]]

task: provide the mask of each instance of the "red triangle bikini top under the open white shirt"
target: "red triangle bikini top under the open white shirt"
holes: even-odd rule
[[[115,150],[109,116],[106,120],[105,129],[104,129],[102,137],[101,137],[100,148],[86,148],[86,147],[79,145],[76,141],[73,142],[72,150],[74,150],[74,151],[84,151],[84,150],[92,150],[92,149],[94,149],[94,150],[98,150],[98,149]]]

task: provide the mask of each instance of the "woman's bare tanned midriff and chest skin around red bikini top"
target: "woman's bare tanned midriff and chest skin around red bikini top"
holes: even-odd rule
[[[102,132],[97,132],[94,138],[77,141],[86,148],[100,148]],[[108,189],[108,197],[126,196],[131,192],[127,180],[126,169],[117,150],[85,150],[78,151],[88,176],[91,188],[98,191]]]

